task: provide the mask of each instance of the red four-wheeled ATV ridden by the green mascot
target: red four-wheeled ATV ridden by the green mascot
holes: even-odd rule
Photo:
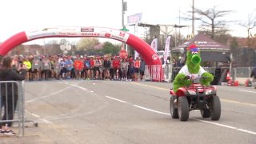
[[[175,93],[170,90],[170,114],[172,118],[187,121],[191,110],[200,110],[202,118],[218,121],[221,117],[221,102],[215,86],[202,86],[195,82],[191,86],[180,87]]]

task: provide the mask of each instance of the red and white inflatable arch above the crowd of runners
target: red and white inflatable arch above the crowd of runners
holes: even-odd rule
[[[112,38],[120,42],[126,42],[134,47],[138,54],[142,56],[147,65],[162,65],[158,55],[141,38],[121,30],[114,30],[104,27],[71,27],[71,26],[53,26],[40,30],[23,31],[8,38],[0,45],[0,55],[6,55],[14,47],[39,38],[75,38],[75,37],[97,37]]]

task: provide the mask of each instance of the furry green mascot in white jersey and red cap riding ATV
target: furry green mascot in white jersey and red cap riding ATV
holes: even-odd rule
[[[182,86],[190,86],[192,82],[187,79],[187,76],[198,80],[202,85],[209,86],[210,82],[214,80],[214,76],[206,72],[202,66],[200,66],[201,57],[197,46],[190,45],[186,49],[186,65],[179,70],[178,74],[174,78],[174,91]]]

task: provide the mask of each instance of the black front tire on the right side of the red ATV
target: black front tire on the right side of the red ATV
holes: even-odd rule
[[[210,119],[214,121],[218,121],[221,118],[222,113],[221,102],[218,96],[213,96],[211,101],[211,111],[210,111]]]

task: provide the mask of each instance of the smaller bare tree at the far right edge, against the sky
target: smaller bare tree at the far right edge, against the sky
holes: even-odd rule
[[[254,13],[248,14],[247,21],[241,22],[239,25],[245,27],[247,30],[247,46],[250,47],[250,41],[252,37],[252,34],[250,34],[250,30],[254,29],[254,27],[256,26],[256,16],[254,15]]]

